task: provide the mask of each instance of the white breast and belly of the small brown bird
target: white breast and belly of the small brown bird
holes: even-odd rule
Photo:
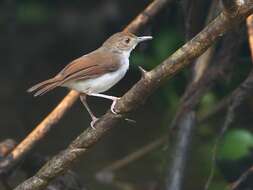
[[[114,72],[106,73],[97,78],[75,81],[68,84],[67,87],[86,94],[105,92],[125,76],[129,68],[128,57],[122,59],[120,65],[119,69]]]

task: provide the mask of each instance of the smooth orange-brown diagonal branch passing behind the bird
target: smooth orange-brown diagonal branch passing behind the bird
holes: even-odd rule
[[[155,0],[141,12],[125,30],[136,33],[151,22],[171,0]],[[9,173],[24,157],[43,139],[53,126],[79,98],[79,94],[71,91],[58,106],[4,159],[0,162],[0,174]]]

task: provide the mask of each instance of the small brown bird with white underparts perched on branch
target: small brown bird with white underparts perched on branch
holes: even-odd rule
[[[53,78],[40,82],[28,92],[41,96],[56,87],[66,87],[80,93],[80,100],[88,111],[92,121],[91,127],[98,118],[91,111],[86,99],[95,96],[112,101],[111,112],[117,114],[114,106],[119,97],[102,94],[117,84],[129,69],[129,57],[132,50],[152,36],[138,37],[130,32],[117,32],[110,36],[101,47],[85,54],[67,64]]]

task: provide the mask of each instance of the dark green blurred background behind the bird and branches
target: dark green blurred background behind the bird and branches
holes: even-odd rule
[[[33,98],[26,93],[30,86],[52,77],[71,60],[99,47],[111,34],[122,30],[150,2],[2,0],[0,140],[11,138],[20,142],[68,92],[67,89],[58,88],[45,96]],[[200,22],[202,24],[210,1],[204,4],[204,9],[199,10],[198,15],[203,18]],[[184,22],[182,2],[171,3],[159,13],[139,33],[152,35],[154,40],[138,46],[132,53],[128,74],[107,94],[123,95],[139,80],[141,75],[138,66],[150,70],[179,48],[186,41]],[[242,48],[238,49],[238,64],[235,64],[231,76],[218,81],[202,98],[199,115],[207,113],[248,75],[251,60],[246,30],[242,30],[242,33],[245,39]],[[73,171],[86,189],[161,188],[169,165],[169,143],[117,171],[116,185],[103,184],[95,175],[112,162],[169,133],[170,123],[191,73],[188,67],[166,82],[144,106],[129,116],[136,121],[135,124],[122,122],[75,164]],[[99,98],[89,98],[88,102],[97,116],[105,113],[111,103]],[[245,162],[246,168],[253,164],[253,160],[248,159],[253,145],[252,111],[253,102],[249,99],[237,112],[232,129],[226,132],[217,155],[221,161],[215,166],[215,177],[210,189],[224,189],[229,178],[226,173],[236,172],[236,168],[244,166]],[[224,115],[225,111],[196,127],[187,166],[188,190],[202,188],[207,180],[212,167],[213,145]],[[55,155],[86,129],[89,123],[88,113],[78,101],[34,152],[46,157]],[[229,165],[236,161],[240,164],[235,167]],[[232,178],[237,175],[232,174]],[[22,172],[13,174],[10,183],[16,186],[24,177]]]

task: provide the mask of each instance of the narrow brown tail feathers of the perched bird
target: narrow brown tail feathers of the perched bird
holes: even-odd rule
[[[27,90],[27,92],[35,92],[34,96],[42,96],[50,90],[59,86],[60,80],[52,78],[43,82],[40,82]]]

